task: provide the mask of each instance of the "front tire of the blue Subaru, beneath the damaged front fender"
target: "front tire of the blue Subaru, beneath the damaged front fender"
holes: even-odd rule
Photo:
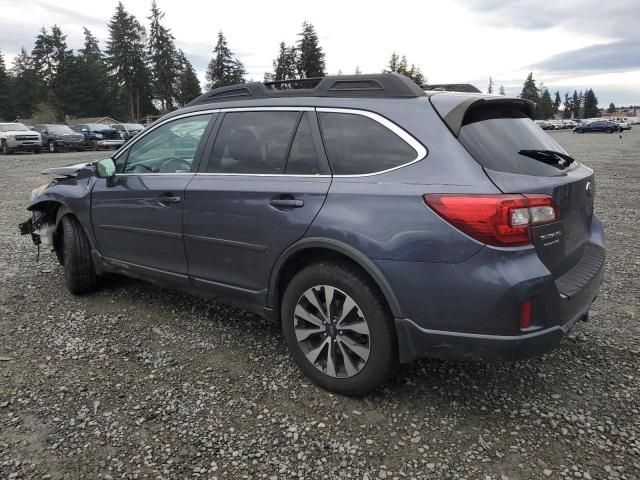
[[[91,245],[78,220],[62,217],[62,257],[67,290],[74,295],[90,293],[97,288],[97,275],[91,260]]]

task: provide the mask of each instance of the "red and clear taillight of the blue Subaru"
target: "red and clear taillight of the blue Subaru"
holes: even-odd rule
[[[476,240],[500,247],[531,243],[530,228],[554,222],[558,211],[548,195],[425,195],[438,215]]]

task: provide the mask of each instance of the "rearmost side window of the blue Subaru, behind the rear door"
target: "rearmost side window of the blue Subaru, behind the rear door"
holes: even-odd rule
[[[417,159],[413,147],[372,118],[319,112],[318,119],[335,175],[382,172]]]

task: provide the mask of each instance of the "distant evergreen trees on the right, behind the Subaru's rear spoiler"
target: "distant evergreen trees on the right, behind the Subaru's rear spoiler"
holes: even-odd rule
[[[522,85],[520,98],[536,102],[535,118],[537,120],[548,120],[562,114],[562,118],[593,118],[600,115],[598,108],[598,97],[593,89],[586,91],[577,90],[573,94],[564,94],[564,99],[560,96],[560,91],[556,91],[554,98],[551,98],[549,89],[540,83],[536,85],[533,73],[529,73]],[[561,108],[562,107],[562,108]]]

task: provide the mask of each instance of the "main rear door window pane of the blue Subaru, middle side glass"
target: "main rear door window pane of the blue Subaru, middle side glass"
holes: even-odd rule
[[[225,113],[209,173],[282,174],[300,112]]]

